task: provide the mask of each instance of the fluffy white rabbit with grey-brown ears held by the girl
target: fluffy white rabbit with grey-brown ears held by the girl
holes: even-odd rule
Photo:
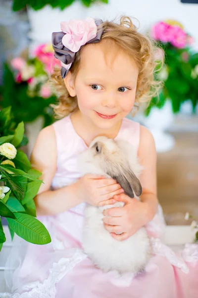
[[[106,137],[95,138],[90,147],[80,154],[79,167],[82,175],[92,173],[112,177],[131,198],[138,199],[142,193],[142,186],[136,177],[142,166],[138,163],[135,149],[128,142],[114,141]],[[130,238],[118,241],[104,228],[102,222],[104,209],[123,206],[123,202],[104,207],[87,205],[83,248],[94,264],[104,272],[116,270],[119,273],[138,274],[144,270],[151,257],[150,241],[145,227],[140,228]]]

